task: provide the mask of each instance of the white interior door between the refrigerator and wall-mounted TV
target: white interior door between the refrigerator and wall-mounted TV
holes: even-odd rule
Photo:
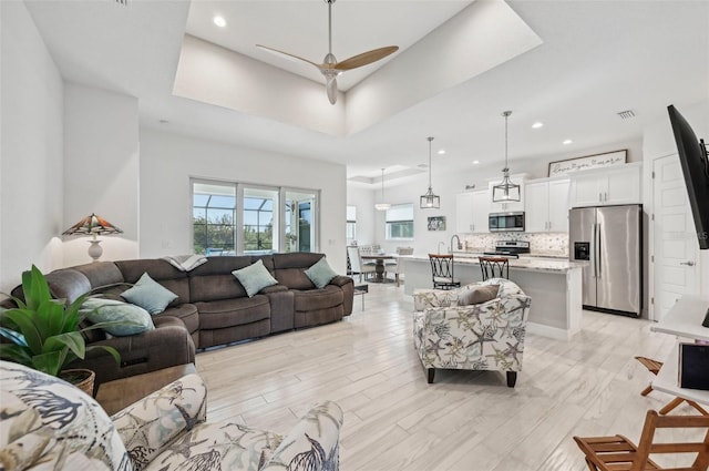
[[[653,163],[654,319],[659,321],[684,295],[699,294],[699,244],[677,155]]]

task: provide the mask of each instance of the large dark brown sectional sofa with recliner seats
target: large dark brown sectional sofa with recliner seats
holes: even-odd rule
[[[106,338],[92,330],[89,345],[111,345],[121,365],[102,349],[72,364],[96,372],[97,385],[113,379],[193,362],[195,349],[253,339],[342,319],[352,313],[353,281],[335,277],[317,288],[305,270],[322,254],[292,253],[264,256],[209,257],[191,272],[160,258],[97,262],[61,268],[47,275],[52,295],[72,301],[89,290],[120,295],[147,273],[177,295],[153,316],[155,330]],[[248,297],[232,274],[260,259],[278,284]],[[13,293],[19,295],[21,293]]]

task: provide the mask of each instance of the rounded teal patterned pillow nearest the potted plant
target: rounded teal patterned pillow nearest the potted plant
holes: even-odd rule
[[[116,337],[132,336],[155,328],[147,310],[116,299],[88,298],[79,311],[92,324],[116,322],[103,327],[103,330]]]

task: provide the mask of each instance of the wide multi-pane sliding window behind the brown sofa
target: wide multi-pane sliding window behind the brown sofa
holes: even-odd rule
[[[318,250],[319,192],[192,181],[195,254]]]

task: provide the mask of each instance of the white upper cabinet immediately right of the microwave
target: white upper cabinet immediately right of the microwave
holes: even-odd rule
[[[568,178],[526,183],[524,206],[527,233],[568,232],[569,186]]]

